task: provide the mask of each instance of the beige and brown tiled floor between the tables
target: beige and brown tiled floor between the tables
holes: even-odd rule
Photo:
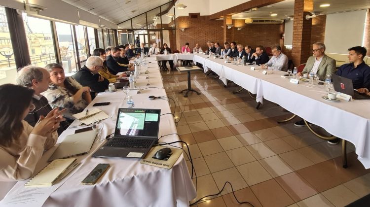
[[[180,119],[178,134],[189,144],[197,199],[218,193],[226,181],[239,201],[255,207],[341,207],[370,193],[370,171],[357,160],[352,144],[343,169],[340,144],[329,145],[306,127],[295,127],[297,119],[278,124],[292,114],[268,101],[257,110],[246,91],[233,94],[237,85],[224,87],[211,77],[192,72],[192,88],[201,95],[184,98],[178,91],[187,87],[186,73],[163,73]],[[191,173],[187,158],[186,163]],[[231,192],[226,185],[221,195],[198,206],[247,206],[239,205]]]

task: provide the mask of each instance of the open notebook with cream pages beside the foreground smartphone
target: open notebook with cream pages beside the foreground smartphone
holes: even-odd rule
[[[75,158],[53,160],[32,177],[25,187],[52,186],[64,172],[73,166],[75,161]]]

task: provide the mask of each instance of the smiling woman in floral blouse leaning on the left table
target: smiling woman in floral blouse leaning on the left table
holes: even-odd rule
[[[66,108],[65,117],[74,119],[72,114],[83,111],[90,104],[90,88],[82,87],[73,77],[66,77],[63,67],[59,64],[47,64],[45,69],[50,73],[51,83],[42,95],[52,108]]]

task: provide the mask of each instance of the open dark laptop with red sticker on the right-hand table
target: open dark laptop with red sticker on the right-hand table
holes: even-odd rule
[[[333,74],[333,85],[336,92],[350,95],[352,99],[370,99],[370,96],[353,90],[353,82],[349,78]]]

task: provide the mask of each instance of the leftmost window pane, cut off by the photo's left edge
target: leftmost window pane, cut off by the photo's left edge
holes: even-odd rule
[[[15,83],[17,69],[15,66],[13,46],[10,41],[5,7],[0,6],[0,85]]]

